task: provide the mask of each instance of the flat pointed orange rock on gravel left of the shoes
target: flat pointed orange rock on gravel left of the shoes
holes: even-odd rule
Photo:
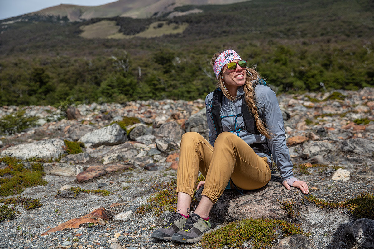
[[[110,214],[105,208],[98,208],[92,211],[91,213],[82,216],[81,218],[76,218],[76,219],[71,219],[68,220],[67,222],[62,223],[61,225],[58,225],[57,227],[54,227],[42,235],[47,235],[49,233],[54,233],[56,231],[62,231],[64,228],[78,228],[82,224],[86,223],[94,223],[97,220],[102,219],[102,220],[110,220]]]

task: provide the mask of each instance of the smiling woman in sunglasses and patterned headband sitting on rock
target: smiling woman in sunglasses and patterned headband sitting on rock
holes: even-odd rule
[[[285,141],[281,110],[275,93],[255,69],[231,49],[216,53],[211,61],[218,88],[206,96],[209,143],[200,134],[185,133],[181,140],[177,173],[177,212],[152,237],[193,243],[211,230],[209,212],[226,186],[252,190],[270,181],[270,154],[283,186],[309,193],[303,181],[293,177]],[[200,172],[205,181],[202,198],[189,214]]]

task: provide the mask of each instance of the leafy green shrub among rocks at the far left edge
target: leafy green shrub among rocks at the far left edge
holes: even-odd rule
[[[36,125],[36,117],[25,117],[25,111],[19,110],[0,119],[0,134],[10,135]]]

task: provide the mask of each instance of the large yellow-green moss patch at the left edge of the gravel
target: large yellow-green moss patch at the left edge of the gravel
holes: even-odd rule
[[[40,163],[31,163],[31,169],[25,168],[20,160],[10,157],[0,158],[0,163],[5,163],[6,168],[0,169],[0,196],[20,194],[28,187],[46,185],[43,180],[45,175]]]

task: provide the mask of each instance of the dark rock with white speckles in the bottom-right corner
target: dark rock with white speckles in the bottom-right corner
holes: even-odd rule
[[[346,234],[352,234],[362,248],[374,248],[374,220],[362,218],[344,229]]]

